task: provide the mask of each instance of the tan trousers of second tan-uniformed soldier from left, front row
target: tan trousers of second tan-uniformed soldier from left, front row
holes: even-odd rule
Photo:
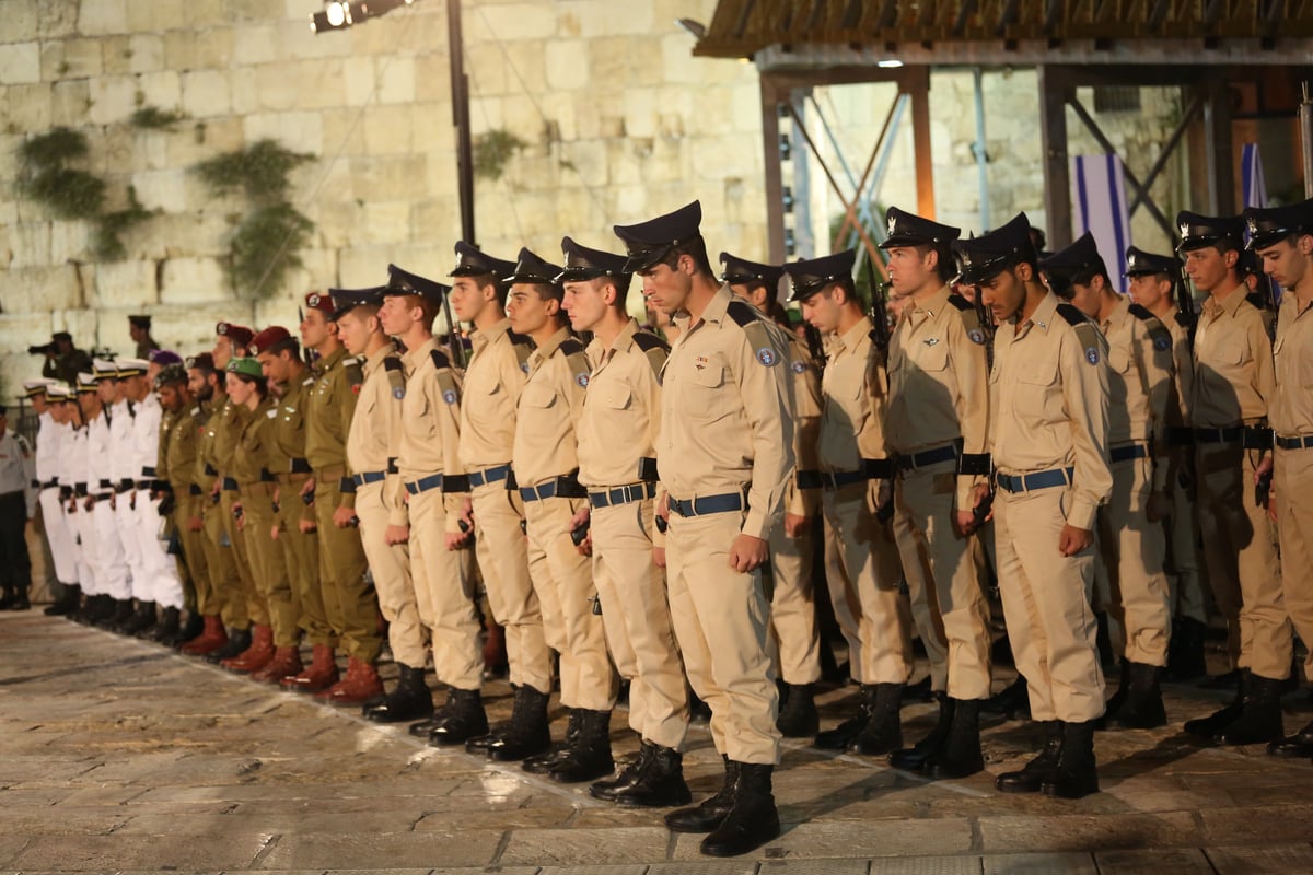
[[[482,686],[483,651],[475,610],[474,550],[446,548],[442,491],[410,497],[411,581],[419,619],[429,630],[437,680],[457,690]]]

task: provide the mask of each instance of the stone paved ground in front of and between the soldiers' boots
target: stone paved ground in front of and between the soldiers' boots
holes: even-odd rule
[[[851,694],[822,698],[827,723]],[[504,715],[506,686],[491,697]],[[1169,712],[1179,722],[1221,698],[1171,687]],[[1289,728],[1309,719],[1305,703],[1288,697]],[[914,733],[931,707],[905,710]],[[776,774],[784,834],[751,858],[705,861],[659,812],[35,611],[0,615],[0,725],[7,871],[1313,872],[1313,765],[1196,748],[1174,728],[1102,733],[1104,792],[1079,802],[999,795],[990,774],[927,783],[790,743]],[[622,725],[617,715],[630,752]],[[990,724],[989,771],[1031,744],[1022,723]],[[695,795],[718,786],[705,727],[685,762]]]

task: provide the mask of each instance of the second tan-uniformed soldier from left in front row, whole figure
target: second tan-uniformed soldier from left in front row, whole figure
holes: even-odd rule
[[[462,744],[484,735],[488,723],[479,694],[482,655],[469,523],[461,519],[469,495],[458,458],[461,380],[432,332],[450,287],[397,265],[387,272],[378,316],[383,331],[406,345],[397,468],[408,496],[411,582],[419,619],[432,641],[433,670],[448,685],[446,704],[432,719],[414,724],[411,735],[435,745]],[[423,677],[416,681],[412,701],[423,704],[427,699],[432,712],[432,694]],[[387,702],[378,707],[385,706],[394,707]],[[395,707],[406,706],[403,699]]]

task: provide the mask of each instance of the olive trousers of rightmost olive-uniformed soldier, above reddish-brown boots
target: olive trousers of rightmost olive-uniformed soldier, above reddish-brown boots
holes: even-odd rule
[[[315,479],[315,522],[319,526],[319,582],[328,624],[347,655],[373,665],[383,640],[378,635],[378,596],[365,580],[360,531],[332,522],[341,502],[337,478]]]

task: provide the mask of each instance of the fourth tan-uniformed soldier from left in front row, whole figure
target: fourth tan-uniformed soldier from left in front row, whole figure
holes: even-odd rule
[[[607,653],[591,563],[575,550],[571,519],[587,502],[579,483],[575,422],[588,387],[588,358],[570,336],[558,265],[520,249],[506,312],[533,340],[516,409],[512,467],[524,502],[529,577],[542,606],[548,645],[561,655],[561,703],[570,710],[565,745],[525,760],[524,769],[559,783],[611,774],[611,710],[617,682]]]

